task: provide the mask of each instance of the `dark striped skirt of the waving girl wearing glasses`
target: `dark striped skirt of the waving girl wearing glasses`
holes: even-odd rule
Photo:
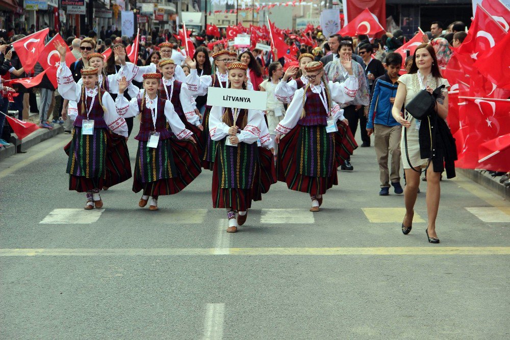
[[[324,126],[296,125],[278,145],[276,174],[291,190],[322,195],[338,184],[335,133]]]

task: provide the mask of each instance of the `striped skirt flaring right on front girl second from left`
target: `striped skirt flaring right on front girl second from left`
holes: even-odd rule
[[[183,190],[201,172],[196,145],[175,137],[160,140],[157,148],[138,142],[133,191],[143,195],[173,195]]]

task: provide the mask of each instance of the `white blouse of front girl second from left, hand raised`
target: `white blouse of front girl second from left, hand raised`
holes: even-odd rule
[[[139,96],[142,95],[142,92],[139,93]],[[155,99],[150,99],[147,94],[145,94],[145,105],[147,108],[154,108],[156,115],[158,115],[158,96]],[[117,107],[117,111],[122,117],[136,117],[140,114],[140,109],[138,107],[138,96],[135,96],[131,101],[127,101],[125,99],[124,94],[117,95],[117,99],[115,100],[115,106]],[[172,132],[179,139],[186,139],[192,135],[192,132],[186,129],[184,123],[177,112],[175,112],[172,102],[169,100],[165,101],[165,117],[170,124],[170,128]]]

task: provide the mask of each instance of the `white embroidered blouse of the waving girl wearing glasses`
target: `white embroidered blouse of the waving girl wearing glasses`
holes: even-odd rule
[[[331,83],[331,82],[329,82]],[[310,86],[310,89],[314,93],[321,93],[322,88],[324,87],[324,84],[321,82],[318,86]],[[299,119],[301,118],[301,113],[303,111],[303,93],[304,88],[300,88],[296,91],[296,94],[294,95],[294,99],[289,104],[289,107],[287,108],[287,112],[285,114],[284,119],[276,126],[276,129],[274,130],[277,134],[286,134],[289,133],[290,130],[292,130],[296,125],[297,122],[299,122]],[[344,93],[345,94],[345,93]],[[337,93],[337,98],[339,94]],[[349,96],[345,94],[345,96],[350,99],[348,101],[352,101],[354,99],[355,93],[353,96]],[[346,99],[347,99],[346,98]],[[331,100],[333,101],[333,90],[331,90]],[[328,112],[328,117],[333,117],[335,122],[337,120],[343,120],[344,117],[344,110],[340,109],[338,104],[331,102],[331,108]]]

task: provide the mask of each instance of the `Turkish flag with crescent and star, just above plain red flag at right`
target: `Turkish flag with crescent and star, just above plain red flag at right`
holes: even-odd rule
[[[469,67],[469,62],[472,64],[487,54],[505,35],[506,32],[499,23],[480,5],[476,5],[475,18],[469,27],[468,35],[457,48],[459,58],[462,58],[463,61],[464,70],[469,71],[466,69]],[[466,58],[468,56],[469,58]]]

